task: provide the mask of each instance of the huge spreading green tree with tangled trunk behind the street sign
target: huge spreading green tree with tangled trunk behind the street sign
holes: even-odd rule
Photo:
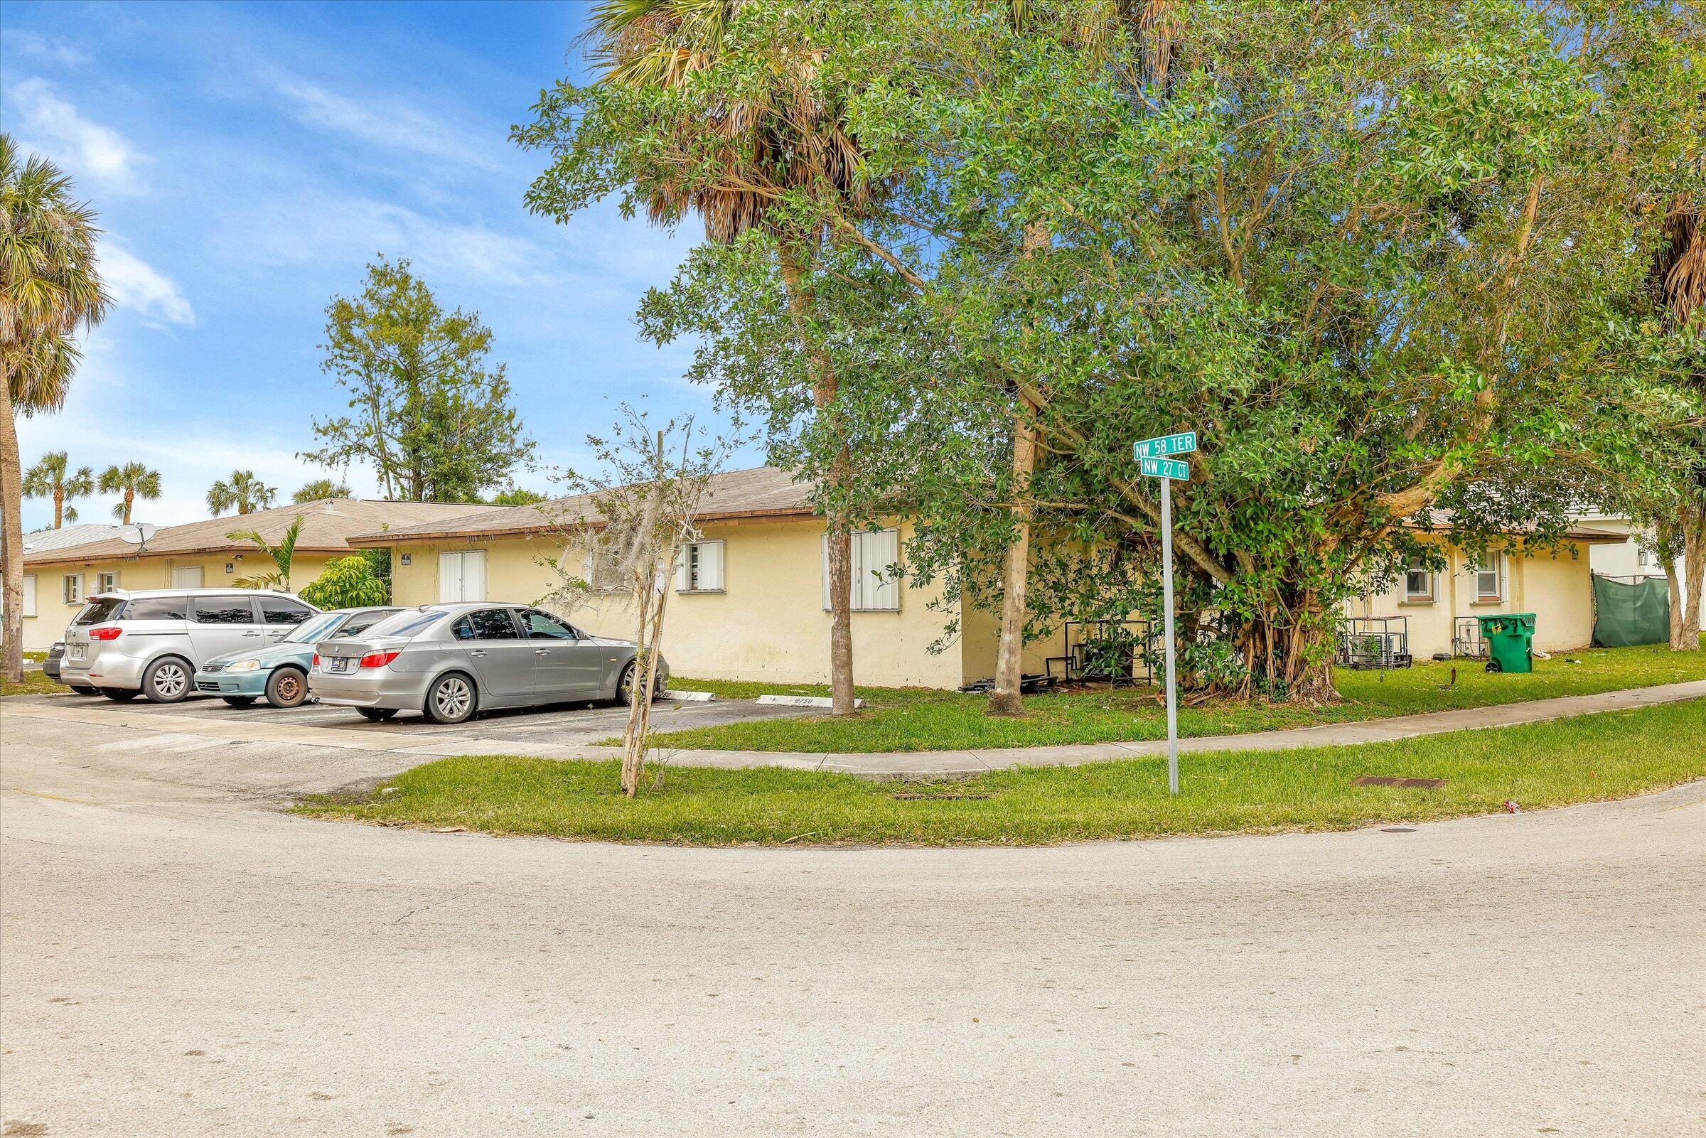
[[[776,29],[827,29],[800,102],[839,107],[884,193],[862,213],[766,193],[834,239],[814,328],[863,380],[838,408],[867,432],[860,488],[921,519],[911,570],[967,604],[1000,602],[1018,505],[1032,630],[1121,618],[1153,611],[1158,568],[1131,442],[1198,428],[1187,647],[1211,624],[1233,667],[1204,676],[1332,698],[1343,599],[1436,556],[1426,531],[1542,548],[1628,452],[1605,408],[1653,398],[1609,331],[1653,244],[1628,195],[1697,140],[1692,17],[1232,0],[1131,34],[1157,5],[1027,7],[752,0],[727,75],[694,72],[732,106]],[[575,145],[650,169],[655,102],[592,104],[604,133]],[[670,145],[727,177],[720,142]],[[696,336],[723,392],[781,391],[776,276],[701,249],[647,326]],[[1003,456],[1015,406],[1029,474]]]

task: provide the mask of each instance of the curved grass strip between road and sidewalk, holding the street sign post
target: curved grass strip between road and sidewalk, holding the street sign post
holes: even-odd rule
[[[1329,831],[1595,802],[1706,776],[1706,701],[1355,747],[1030,768],[950,781],[792,769],[665,768],[628,800],[618,763],[461,756],[358,800],[299,814],[498,834],[725,845],[1049,845],[1100,838]],[[1356,787],[1360,775],[1443,778]]]

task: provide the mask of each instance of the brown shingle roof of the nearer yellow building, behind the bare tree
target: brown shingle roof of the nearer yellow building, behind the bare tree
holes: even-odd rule
[[[699,520],[735,517],[810,515],[810,483],[775,466],[715,474],[705,496]],[[351,546],[384,546],[394,541],[432,541],[435,537],[503,537],[539,534],[573,522],[597,522],[592,495],[553,498],[537,505],[486,508],[464,517],[435,519],[418,525],[392,525],[386,532],[357,534]]]

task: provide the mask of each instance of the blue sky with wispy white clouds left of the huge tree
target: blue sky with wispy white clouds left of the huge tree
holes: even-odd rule
[[[206,517],[252,469],[285,496],[341,409],[319,370],[324,307],[375,254],[409,258],[447,307],[478,309],[544,466],[583,461],[618,399],[713,418],[684,345],[633,312],[698,234],[529,215],[543,157],[508,142],[541,87],[583,73],[578,3],[27,3],[0,20],[0,123],[60,162],[101,213],[116,309],[65,411],[20,423],[26,466],[65,449],[142,459],[147,520]],[[519,479],[549,490],[546,473]],[[367,471],[350,485],[372,495]],[[82,503],[106,520],[107,503]],[[24,527],[51,520],[41,502]]]

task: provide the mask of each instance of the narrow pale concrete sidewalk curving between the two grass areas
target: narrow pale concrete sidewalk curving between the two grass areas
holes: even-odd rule
[[[1356,723],[1327,723],[1295,730],[1269,730],[1247,735],[1208,735],[1181,739],[1181,752],[1204,751],[1297,751],[1302,747],[1336,747],[1360,742],[1385,742],[1414,739],[1454,730],[1483,727],[1515,727],[1518,723],[1544,723],[1547,720],[1592,715],[1595,711],[1622,711],[1663,703],[1706,700],[1706,681],[1660,684],[1657,688],[1628,688],[1592,696],[1559,696],[1554,700],[1529,700],[1483,708],[1452,711],[1426,711],[1423,715],[1397,715]],[[444,758],[449,754],[520,754],[541,759],[609,759],[611,747],[539,744],[515,739],[483,739],[479,735],[433,739],[409,730],[409,723],[351,723],[348,727],[304,727],[283,722],[244,720],[215,722],[193,715],[138,713],[87,703],[46,705],[27,703],[0,708],[5,717],[46,718],[67,723],[135,729],[160,732],[183,739],[205,735],[242,739],[268,744],[307,744],[355,751],[384,751],[391,754]],[[1703,717],[1706,727],[1706,717]],[[162,739],[165,742],[165,739]],[[809,771],[836,771],[863,778],[928,778],[952,775],[981,775],[984,771],[1015,766],[1078,766],[1083,763],[1109,763],[1165,754],[1165,739],[1140,742],[1094,742],[1059,747],[1000,747],[986,751],[882,751],[870,754],[821,754],[802,751],[670,751],[676,766],[785,766]]]

